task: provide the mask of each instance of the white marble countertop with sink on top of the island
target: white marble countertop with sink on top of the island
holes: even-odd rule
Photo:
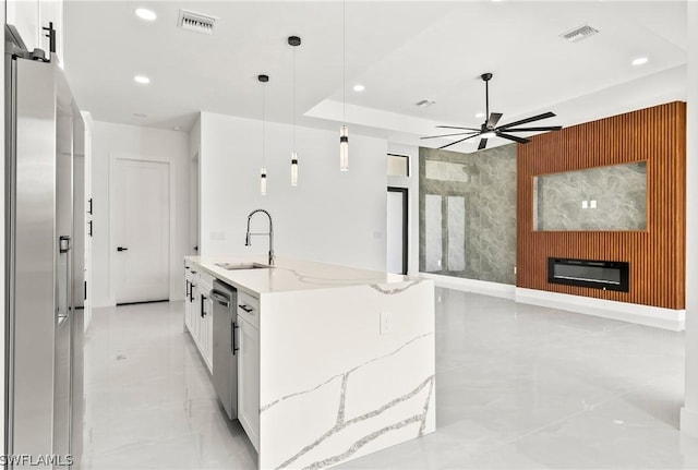
[[[418,280],[418,278],[397,274],[282,256],[276,258],[274,267],[256,269],[226,269],[218,266],[217,263],[258,263],[266,265],[266,256],[241,255],[216,256],[213,258],[185,256],[184,260],[198,265],[202,270],[224,282],[253,294],[350,286],[385,286]]]

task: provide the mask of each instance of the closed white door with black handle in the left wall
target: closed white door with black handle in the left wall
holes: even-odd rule
[[[169,299],[169,165],[116,159],[117,304]]]

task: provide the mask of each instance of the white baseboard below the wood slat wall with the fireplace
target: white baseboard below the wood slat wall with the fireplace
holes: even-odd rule
[[[516,288],[515,300],[520,303],[567,310],[672,332],[683,332],[686,329],[685,310],[663,309],[660,306],[546,292],[520,287]]]

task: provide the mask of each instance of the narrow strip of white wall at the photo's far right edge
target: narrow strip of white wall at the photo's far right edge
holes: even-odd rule
[[[684,434],[698,437],[698,3],[688,2],[688,122],[686,168],[686,391]]]

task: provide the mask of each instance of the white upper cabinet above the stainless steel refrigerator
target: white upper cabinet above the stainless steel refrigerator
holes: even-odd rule
[[[63,0],[8,0],[8,24],[17,28],[28,50],[44,49],[48,55],[49,39],[43,27],[53,23],[56,53],[63,58]]]

